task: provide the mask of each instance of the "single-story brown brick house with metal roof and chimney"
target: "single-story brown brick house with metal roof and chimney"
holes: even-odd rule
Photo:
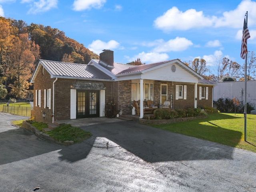
[[[133,100],[155,105],[170,100],[173,109],[212,106],[215,84],[180,60],[134,66],[116,63],[112,50],[103,51],[100,60],[88,64],[39,61],[31,78],[36,121],[104,117],[110,102],[123,114],[132,114]]]

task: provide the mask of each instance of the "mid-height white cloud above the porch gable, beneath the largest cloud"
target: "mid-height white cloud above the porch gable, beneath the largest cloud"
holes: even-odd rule
[[[167,42],[159,40],[158,42],[159,44],[154,48],[154,52],[184,51],[189,46],[193,45],[190,40],[184,37],[176,37],[175,39],[170,39]]]

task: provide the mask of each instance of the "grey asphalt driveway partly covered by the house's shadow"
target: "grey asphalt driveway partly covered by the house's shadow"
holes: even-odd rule
[[[0,125],[0,191],[256,191],[253,152],[137,122],[81,128],[93,136],[63,147]]]

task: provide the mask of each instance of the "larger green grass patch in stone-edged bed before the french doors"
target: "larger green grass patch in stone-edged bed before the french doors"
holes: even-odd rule
[[[56,141],[74,141],[74,143],[80,143],[85,139],[90,138],[92,134],[90,132],[84,131],[79,127],[72,127],[70,124],[65,124],[55,128],[52,131],[46,132]]]

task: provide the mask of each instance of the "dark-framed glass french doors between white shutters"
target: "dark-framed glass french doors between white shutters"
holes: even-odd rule
[[[99,96],[98,90],[77,90],[76,118],[98,117]]]

